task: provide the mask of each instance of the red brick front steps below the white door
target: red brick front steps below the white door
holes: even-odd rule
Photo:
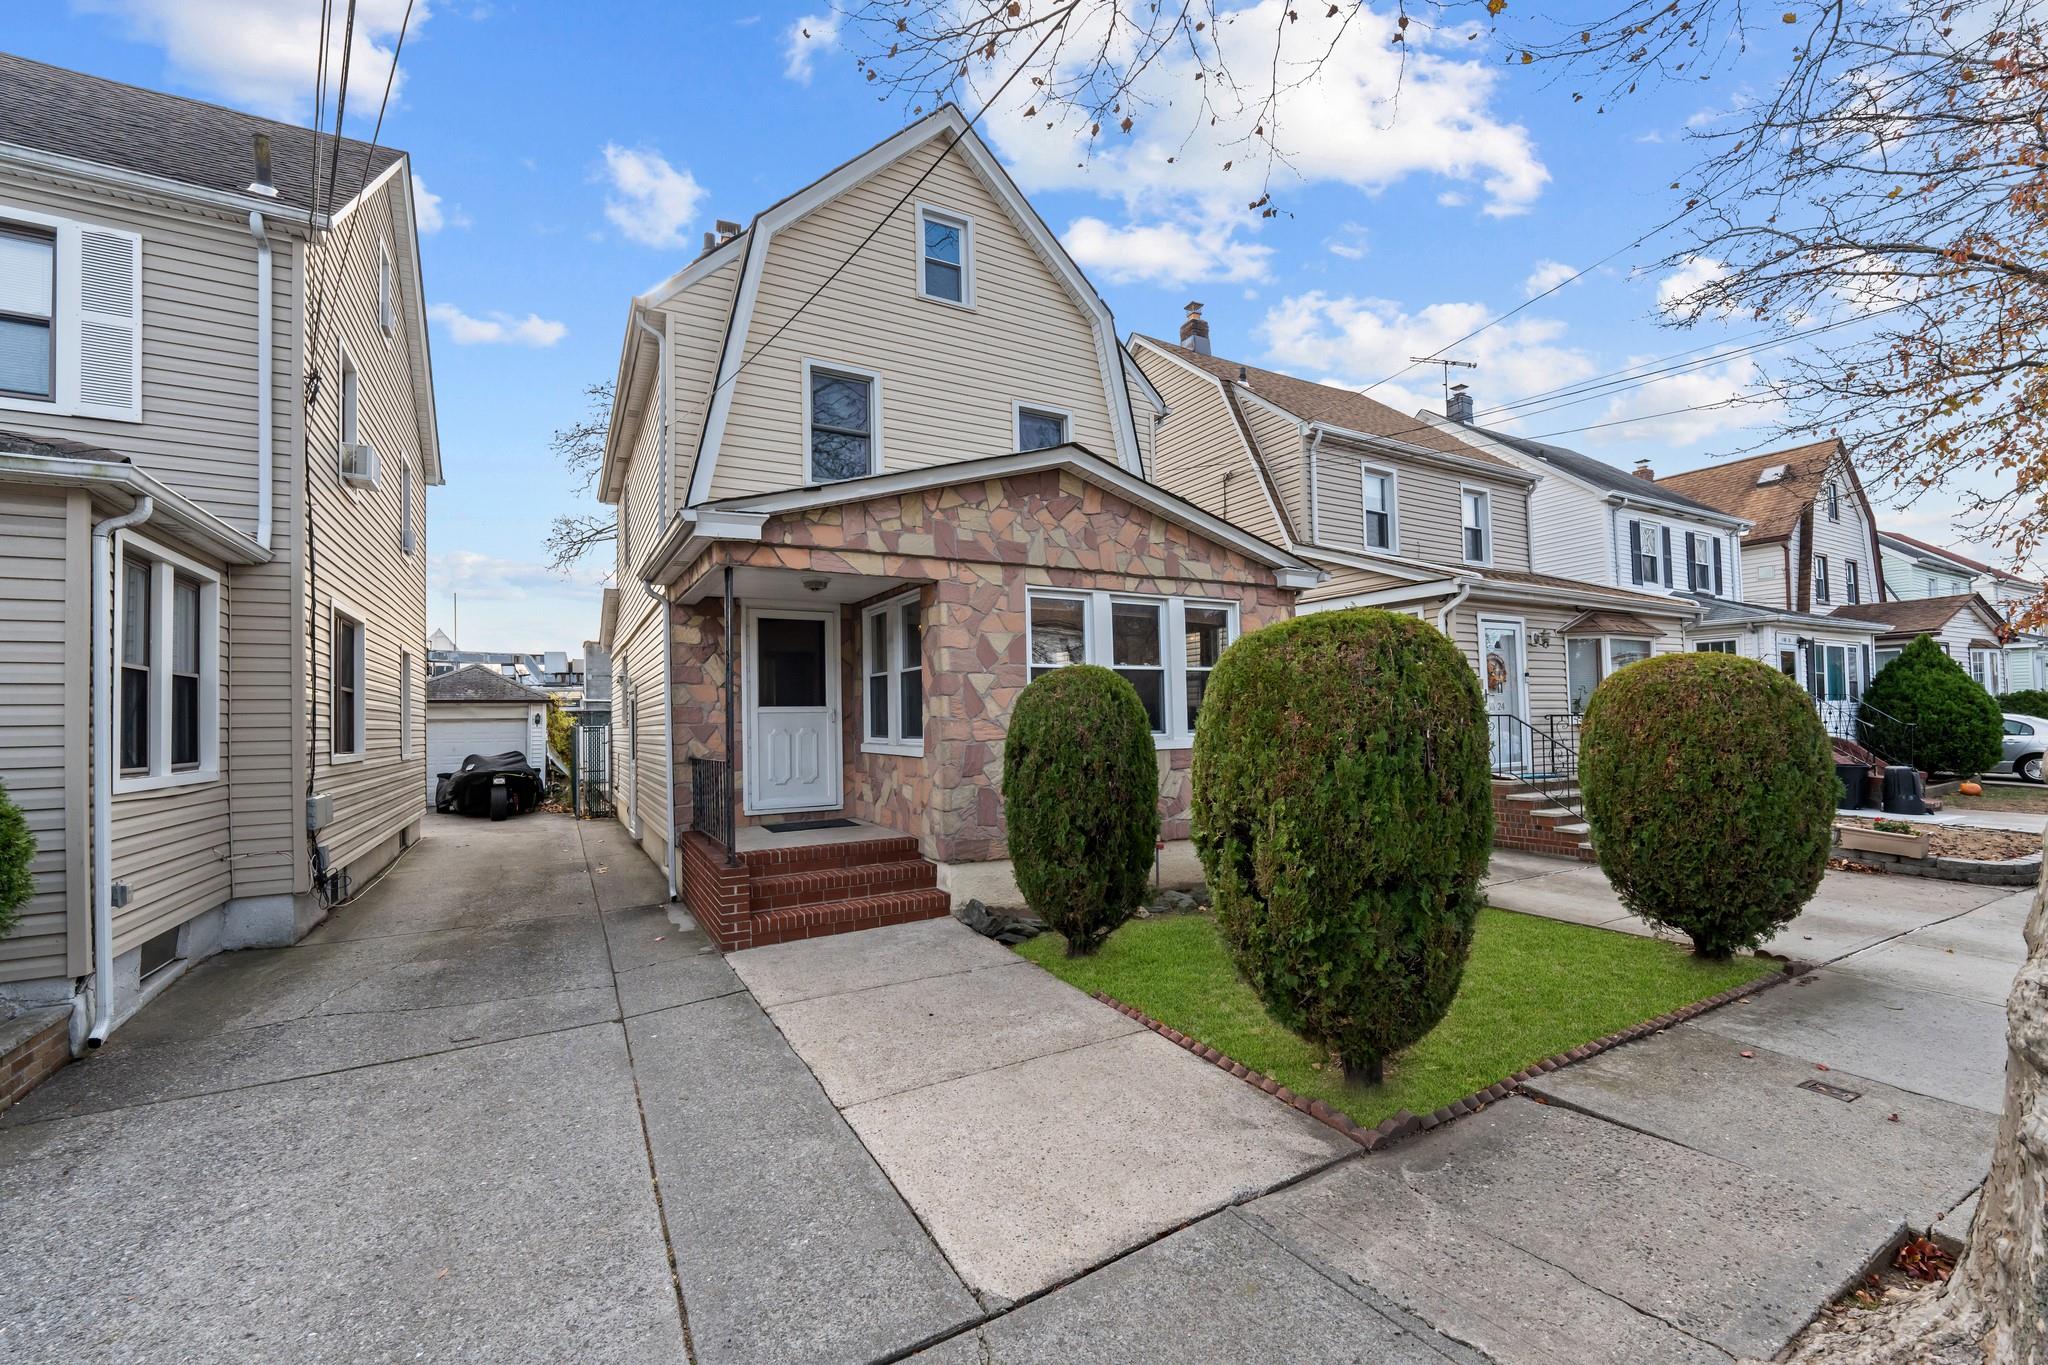
[[[727,866],[725,849],[688,833],[682,898],[721,952],[938,919],[952,907],[909,837],[752,849]]]

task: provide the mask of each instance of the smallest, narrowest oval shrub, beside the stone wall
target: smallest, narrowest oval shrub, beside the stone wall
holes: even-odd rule
[[[1024,902],[1102,948],[1145,900],[1159,841],[1159,759],[1137,688],[1106,667],[1053,669],[1018,694],[1004,741],[1004,821]]]

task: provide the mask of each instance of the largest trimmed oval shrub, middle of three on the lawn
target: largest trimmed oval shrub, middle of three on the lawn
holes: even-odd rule
[[[1378,1083],[1464,976],[1493,843],[1479,677],[1376,610],[1255,630],[1194,731],[1194,841],[1237,968],[1280,1023]]]

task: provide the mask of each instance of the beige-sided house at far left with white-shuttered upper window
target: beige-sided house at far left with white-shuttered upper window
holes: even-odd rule
[[[39,845],[0,1001],[74,1044],[418,837],[412,184],[348,141],[315,203],[332,149],[0,55],[0,782]]]

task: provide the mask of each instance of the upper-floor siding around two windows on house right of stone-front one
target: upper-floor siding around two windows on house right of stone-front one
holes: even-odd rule
[[[1364,548],[1360,460],[1393,469],[1399,483],[1401,555],[1436,565],[1464,563],[1460,487],[1487,489],[1495,569],[1530,567],[1528,489],[1481,473],[1440,469],[1384,450],[1323,440],[1315,452],[1317,544]]]

